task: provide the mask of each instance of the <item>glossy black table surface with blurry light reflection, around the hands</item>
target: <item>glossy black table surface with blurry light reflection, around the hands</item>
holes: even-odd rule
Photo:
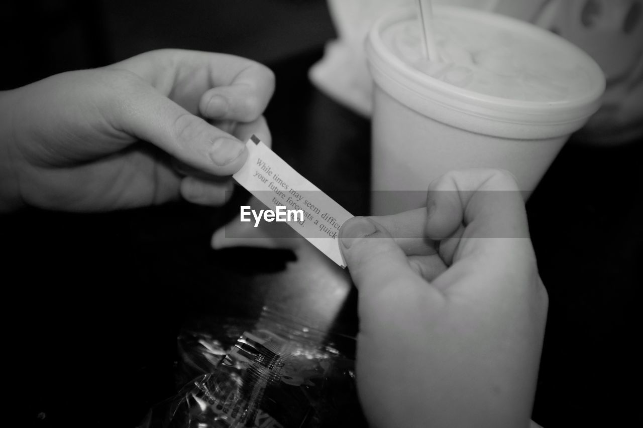
[[[321,190],[353,191],[338,202],[366,215],[370,125],[309,84],[320,56],[273,64],[273,148]],[[642,147],[567,145],[528,203],[550,296],[534,408],[546,427],[640,420],[631,387],[640,373]],[[176,391],[176,337],[196,317],[257,317],[275,304],[356,332],[347,272],[312,247],[210,248],[237,206],[3,216],[5,354],[28,424],[136,425]]]

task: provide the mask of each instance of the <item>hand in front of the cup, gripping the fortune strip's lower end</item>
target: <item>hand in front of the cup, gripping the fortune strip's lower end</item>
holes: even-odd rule
[[[453,172],[431,184],[427,206],[341,227],[359,289],[368,420],[527,427],[547,292],[516,183],[495,170]]]

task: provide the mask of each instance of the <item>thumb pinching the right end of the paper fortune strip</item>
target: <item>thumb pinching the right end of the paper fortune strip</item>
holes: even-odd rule
[[[390,233],[371,218],[355,217],[345,222],[340,228],[340,242],[360,294],[378,293],[405,280],[420,280]]]

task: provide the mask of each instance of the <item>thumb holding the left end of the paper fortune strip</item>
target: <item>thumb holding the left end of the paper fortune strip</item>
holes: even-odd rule
[[[116,109],[117,129],[208,174],[231,175],[245,163],[248,153],[239,139],[190,114],[142,80],[129,89]]]

